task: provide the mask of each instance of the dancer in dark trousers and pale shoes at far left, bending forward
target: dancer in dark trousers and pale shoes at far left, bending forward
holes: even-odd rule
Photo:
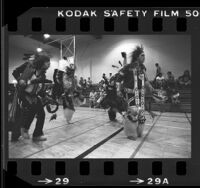
[[[45,141],[43,126],[45,111],[41,102],[41,84],[46,82],[46,70],[50,66],[50,58],[47,55],[35,55],[34,59],[17,67],[13,76],[18,81],[18,97],[21,102],[21,117],[18,127],[22,127],[21,135],[29,139],[29,128],[35,116],[37,116],[33,141]],[[12,141],[17,141],[20,134],[13,132]]]

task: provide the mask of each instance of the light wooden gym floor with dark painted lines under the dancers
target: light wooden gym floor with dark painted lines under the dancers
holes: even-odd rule
[[[191,114],[155,113],[154,120],[146,113],[144,135],[133,141],[126,138],[119,114],[117,122],[110,122],[105,110],[77,107],[72,123],[67,124],[60,107],[56,120],[49,122],[51,114],[46,113],[44,133],[47,141],[9,141],[9,157],[190,158]],[[34,126],[35,120],[30,134]]]

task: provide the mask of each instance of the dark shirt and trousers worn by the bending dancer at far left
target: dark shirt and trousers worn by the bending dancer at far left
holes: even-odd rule
[[[34,74],[36,79],[31,80]],[[17,86],[19,99],[22,102],[21,117],[18,126],[28,130],[35,115],[37,115],[37,122],[33,137],[41,136],[43,135],[42,129],[45,121],[45,111],[38,96],[44,96],[44,92],[40,90],[40,84],[44,84],[46,80],[45,72],[41,72],[40,75],[36,75],[36,69],[33,64],[26,62],[13,71],[13,76],[16,80],[24,80],[26,83],[31,80],[31,85],[29,85],[30,87]],[[27,91],[28,87],[29,89]],[[20,128],[18,128],[18,130],[19,129]]]

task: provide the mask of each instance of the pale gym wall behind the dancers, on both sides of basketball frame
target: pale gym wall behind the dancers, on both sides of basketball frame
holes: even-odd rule
[[[23,43],[30,44],[30,39],[23,39]],[[83,43],[76,41],[76,58],[78,78],[90,76],[92,63],[92,80],[99,82],[103,73],[107,75],[117,72],[112,64],[122,62],[121,52],[129,54],[136,45],[143,44],[149,79],[155,76],[155,63],[159,63],[163,72],[172,71],[175,77],[180,76],[185,69],[191,71],[190,37],[186,35],[106,35],[102,39],[88,40]],[[23,45],[24,46],[24,45]],[[32,46],[36,48],[35,44]],[[51,66],[47,71],[47,78],[52,79],[53,71],[58,67],[59,50],[48,49],[52,55]],[[12,82],[12,71],[23,63],[23,54],[30,52],[30,47],[20,47],[20,44],[9,46],[9,81]],[[128,59],[129,61],[130,59]]]

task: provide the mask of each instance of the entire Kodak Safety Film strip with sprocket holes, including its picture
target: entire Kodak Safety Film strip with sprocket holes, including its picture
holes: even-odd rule
[[[2,32],[7,184],[17,177],[37,186],[200,185],[198,78],[192,79],[200,62],[199,8],[32,8]],[[138,45],[144,59],[137,56]],[[133,89],[134,63],[151,80],[145,84],[152,85],[154,96],[159,94],[157,100],[150,97],[153,102],[145,96],[143,134],[132,140],[137,124],[124,123],[126,109],[115,100],[123,100],[123,92],[106,100],[109,93],[102,91],[109,90],[105,78],[111,90],[119,80]],[[45,80],[33,82],[43,75]],[[37,92],[41,83],[49,84],[43,93],[50,110]]]

